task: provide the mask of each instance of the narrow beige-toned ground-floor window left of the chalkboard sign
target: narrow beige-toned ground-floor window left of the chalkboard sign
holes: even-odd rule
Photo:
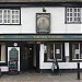
[[[0,44],[0,62],[5,62],[5,44]]]

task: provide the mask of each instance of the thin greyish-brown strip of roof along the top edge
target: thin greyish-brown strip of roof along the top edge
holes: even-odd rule
[[[0,0],[0,2],[82,2],[82,0]]]

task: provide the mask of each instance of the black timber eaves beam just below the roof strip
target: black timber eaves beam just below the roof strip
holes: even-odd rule
[[[1,2],[0,7],[82,7],[82,2]]]

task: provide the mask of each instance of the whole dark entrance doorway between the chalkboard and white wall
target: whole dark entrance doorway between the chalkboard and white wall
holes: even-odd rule
[[[23,44],[20,56],[21,71],[39,70],[39,45]]]

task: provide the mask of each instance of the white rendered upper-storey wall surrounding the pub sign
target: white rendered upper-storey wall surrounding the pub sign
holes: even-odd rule
[[[48,7],[50,13],[50,34],[81,33],[81,24],[66,24],[66,8]],[[43,8],[21,8],[21,25],[0,25],[0,34],[36,33],[36,13],[44,13]]]

